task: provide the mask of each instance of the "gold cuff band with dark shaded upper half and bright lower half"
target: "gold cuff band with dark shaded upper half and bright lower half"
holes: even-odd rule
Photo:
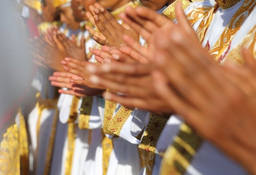
[[[93,97],[84,97],[78,117],[78,128],[89,129],[90,115],[92,111]]]

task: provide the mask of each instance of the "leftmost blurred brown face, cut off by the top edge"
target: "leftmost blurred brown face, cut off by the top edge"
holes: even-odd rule
[[[53,6],[51,0],[42,1],[42,17],[44,21],[53,22],[59,19],[59,11]]]

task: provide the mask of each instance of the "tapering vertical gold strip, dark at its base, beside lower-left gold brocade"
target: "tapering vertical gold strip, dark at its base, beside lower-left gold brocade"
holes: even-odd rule
[[[20,147],[20,174],[28,174],[28,134],[26,123],[21,111],[19,112],[19,147]]]

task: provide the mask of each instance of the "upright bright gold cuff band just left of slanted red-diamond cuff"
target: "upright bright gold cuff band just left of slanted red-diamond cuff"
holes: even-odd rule
[[[110,121],[112,120],[113,113],[116,110],[116,102],[114,101],[105,101],[105,113],[104,113],[104,121],[103,121],[103,132],[105,134],[111,134],[108,132],[108,126]]]

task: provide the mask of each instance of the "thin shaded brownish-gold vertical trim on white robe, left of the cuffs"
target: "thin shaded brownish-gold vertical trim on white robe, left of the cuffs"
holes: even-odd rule
[[[50,168],[51,168],[51,163],[52,163],[52,152],[53,152],[53,147],[54,147],[54,142],[55,142],[55,134],[56,134],[56,128],[58,124],[58,119],[59,119],[59,112],[58,112],[58,107],[55,107],[55,115],[53,117],[52,121],[52,130],[51,130],[51,135],[49,138],[49,143],[48,143],[48,149],[46,152],[46,157],[45,157],[45,167],[44,167],[44,175],[48,175],[50,173]]]

